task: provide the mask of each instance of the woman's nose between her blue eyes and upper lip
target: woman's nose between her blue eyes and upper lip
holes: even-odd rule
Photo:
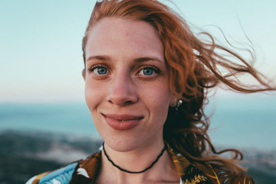
[[[107,89],[108,90],[108,89]],[[138,96],[130,76],[115,76],[109,88],[107,100],[116,105],[127,105],[137,102]]]

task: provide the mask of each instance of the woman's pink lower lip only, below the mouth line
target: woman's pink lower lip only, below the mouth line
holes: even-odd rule
[[[135,127],[139,124],[141,119],[132,119],[127,121],[119,121],[117,119],[112,119],[107,116],[104,116],[104,119],[106,119],[106,123],[115,130],[130,130],[132,127]]]

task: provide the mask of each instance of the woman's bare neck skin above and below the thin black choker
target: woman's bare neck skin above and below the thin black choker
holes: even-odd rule
[[[106,154],[116,165],[131,172],[139,172],[150,166],[164,148],[164,142],[155,145],[145,145],[144,147],[131,150],[129,152],[117,152],[104,145]],[[102,152],[102,167],[99,179],[100,183],[145,183],[152,181],[178,181],[179,175],[172,163],[168,152],[160,156],[159,160],[150,167],[149,170],[139,174],[130,174],[119,170],[108,161],[106,155]],[[166,175],[166,174],[167,175]],[[108,177],[105,174],[108,174]],[[165,176],[166,175],[166,176]],[[160,177],[161,176],[161,177]],[[134,182],[135,181],[135,182]]]

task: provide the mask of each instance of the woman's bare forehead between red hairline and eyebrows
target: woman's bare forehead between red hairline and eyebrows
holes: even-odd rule
[[[164,54],[157,31],[145,21],[106,17],[88,33],[86,57],[93,54]]]

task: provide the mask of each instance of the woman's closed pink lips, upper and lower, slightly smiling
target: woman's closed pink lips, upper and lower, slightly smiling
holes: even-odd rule
[[[102,114],[106,123],[115,130],[130,130],[139,124],[143,116],[133,116],[129,114]]]

